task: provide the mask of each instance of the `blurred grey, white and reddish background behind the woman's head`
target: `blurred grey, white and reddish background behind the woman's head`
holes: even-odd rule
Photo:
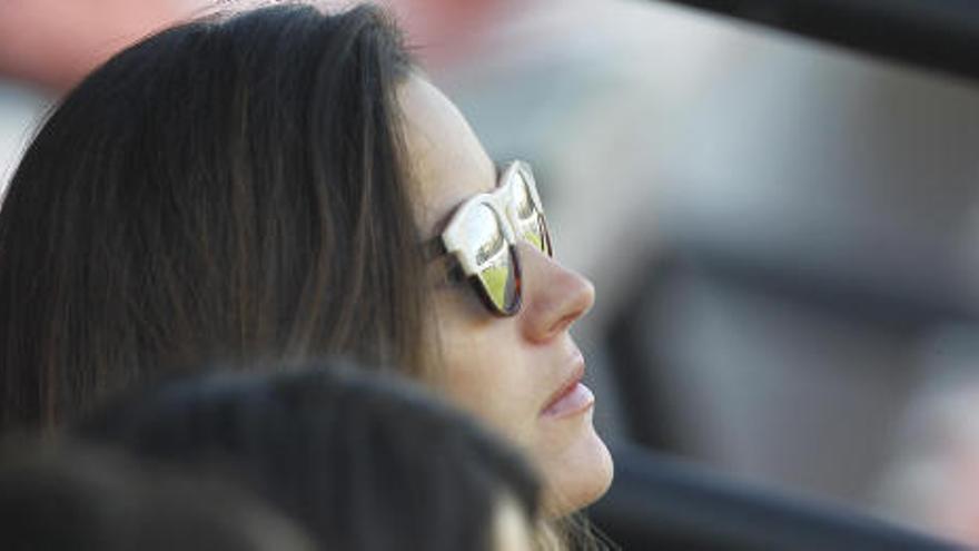
[[[0,3],[0,180],[60,94],[209,3]],[[613,446],[979,545],[979,82],[669,2],[382,3],[594,281]]]

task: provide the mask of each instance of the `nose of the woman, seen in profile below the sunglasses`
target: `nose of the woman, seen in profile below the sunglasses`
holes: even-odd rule
[[[523,331],[531,341],[548,341],[592,308],[595,286],[533,246],[517,246],[523,268]]]

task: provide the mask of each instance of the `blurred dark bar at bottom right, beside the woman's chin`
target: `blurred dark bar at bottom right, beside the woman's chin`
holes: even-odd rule
[[[956,550],[882,520],[762,491],[637,447],[614,452],[615,481],[590,511],[625,550]]]

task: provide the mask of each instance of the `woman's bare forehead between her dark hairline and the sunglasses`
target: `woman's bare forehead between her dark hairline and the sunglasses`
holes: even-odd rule
[[[496,167],[455,105],[412,76],[398,90],[415,208],[424,234],[459,203],[496,186]]]

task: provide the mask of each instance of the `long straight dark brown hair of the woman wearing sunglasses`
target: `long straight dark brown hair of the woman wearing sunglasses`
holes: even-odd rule
[[[375,8],[276,6],[166,30],[81,82],[0,211],[0,430],[216,358],[418,373],[412,67]]]

